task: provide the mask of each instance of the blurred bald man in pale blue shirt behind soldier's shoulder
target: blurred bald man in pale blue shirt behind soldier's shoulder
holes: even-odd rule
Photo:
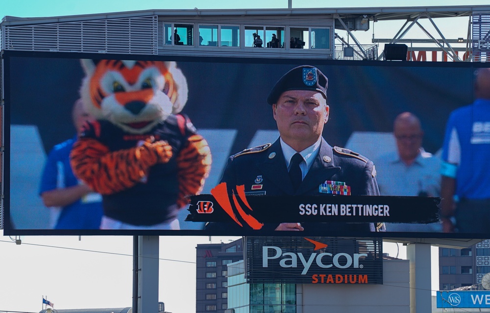
[[[393,123],[396,151],[375,160],[379,192],[382,196],[439,197],[441,161],[422,148],[424,132],[413,113],[399,114]],[[440,223],[388,224],[390,232],[441,232]]]

